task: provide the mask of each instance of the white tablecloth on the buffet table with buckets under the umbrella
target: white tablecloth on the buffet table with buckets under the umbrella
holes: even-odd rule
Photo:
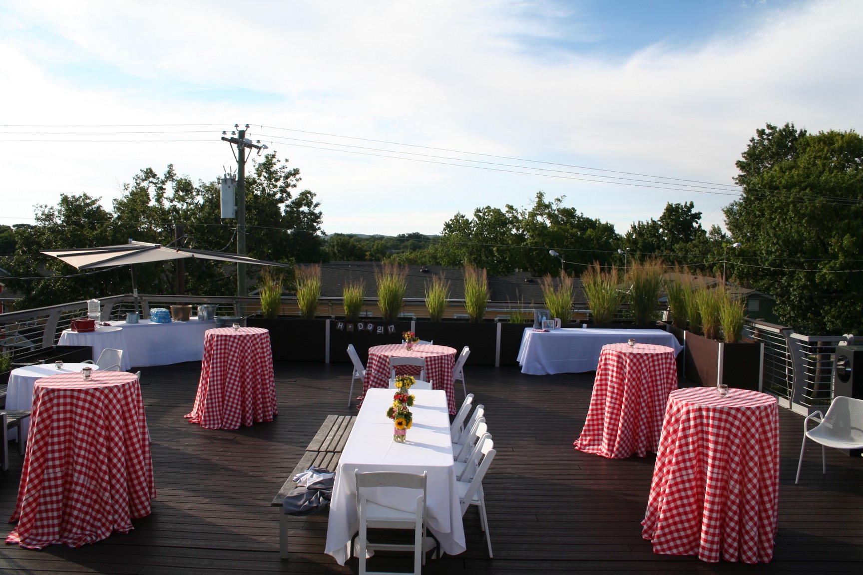
[[[114,328],[97,328],[89,333],[66,330],[60,334],[60,345],[91,346],[94,361],[105,347],[122,349],[123,361],[120,367],[125,372],[133,367],[200,361],[204,359],[204,332],[216,327],[214,322],[198,322],[197,317],[188,322],[153,323],[141,320],[138,323],[125,323],[119,320],[110,324]],[[107,331],[109,329],[117,331]],[[112,333],[115,335],[111,336]]]

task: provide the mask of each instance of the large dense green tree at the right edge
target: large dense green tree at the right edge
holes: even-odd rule
[[[725,209],[728,230],[759,267],[735,272],[776,297],[793,328],[863,329],[863,273],[849,271],[863,259],[861,164],[853,130],[808,134],[791,123],[757,130],[737,162],[744,191]]]

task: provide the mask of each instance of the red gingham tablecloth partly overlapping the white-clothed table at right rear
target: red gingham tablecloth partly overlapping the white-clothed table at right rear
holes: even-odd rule
[[[668,394],[677,389],[671,347],[602,346],[590,409],[576,449],[611,459],[656,453]]]

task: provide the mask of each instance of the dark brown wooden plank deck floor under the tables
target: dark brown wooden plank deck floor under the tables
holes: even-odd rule
[[[190,425],[198,363],[144,368],[159,497],[129,534],[41,552],[0,545],[0,573],[356,572],[323,553],[326,520],[292,519],[292,556],[278,556],[269,506],[328,414],[348,408],[350,366],[280,363],[280,414],[236,431]],[[811,447],[794,484],[803,417],[781,410],[779,530],[769,565],[709,565],[652,553],[641,539],[653,458],[608,460],[576,452],[592,374],[524,376],[517,368],[468,366],[469,391],[487,409],[498,450],[484,482],[494,559],[476,508],[465,516],[468,551],[430,561],[429,573],[854,572],[863,571],[863,458],[828,450],[822,476]],[[355,393],[356,395],[356,393]],[[461,402],[462,393],[457,392]],[[757,433],[757,430],[741,430]],[[0,516],[15,504],[21,458],[0,472]],[[408,568],[400,560],[388,568]],[[395,559],[381,559],[389,562]],[[371,565],[370,565],[371,566]]]

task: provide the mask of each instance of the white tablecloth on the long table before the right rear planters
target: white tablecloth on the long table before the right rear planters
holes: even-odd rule
[[[672,347],[675,354],[683,349],[674,335],[662,329],[558,328],[542,333],[526,328],[518,361],[521,372],[530,375],[593,372],[599,365],[602,346],[629,339]]]

